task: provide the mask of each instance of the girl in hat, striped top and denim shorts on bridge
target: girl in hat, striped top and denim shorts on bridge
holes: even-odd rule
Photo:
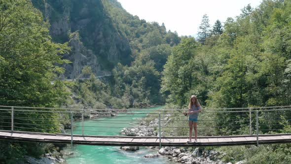
[[[198,121],[198,114],[201,112],[201,105],[197,99],[196,95],[192,95],[190,98],[188,112],[189,115],[189,141],[192,142],[192,129],[194,127],[194,142],[197,142],[197,121]]]

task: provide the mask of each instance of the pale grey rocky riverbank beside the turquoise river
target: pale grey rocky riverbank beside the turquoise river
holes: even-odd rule
[[[151,120],[148,116],[145,120]],[[121,134],[127,136],[158,136],[158,123],[159,120],[152,118],[152,121],[142,121],[138,127],[125,127],[121,130]],[[171,121],[171,115],[168,114],[162,119],[164,125],[167,125]],[[161,133],[161,135],[163,135]],[[158,149],[158,147],[149,147],[149,149],[157,149],[156,154],[145,155],[144,158],[158,158],[159,156],[167,156],[169,161],[182,163],[182,164],[232,164],[222,162],[218,157],[223,156],[223,153],[217,152],[215,150],[208,150],[205,148],[195,148],[195,149],[185,149],[177,147],[163,147]],[[138,147],[131,147],[127,149],[122,149],[127,151],[137,151]],[[240,161],[235,164],[246,164],[246,161]]]

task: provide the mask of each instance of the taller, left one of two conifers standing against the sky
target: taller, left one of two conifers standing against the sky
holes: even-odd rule
[[[204,14],[202,17],[201,24],[199,26],[199,32],[198,32],[198,41],[202,44],[204,44],[207,37],[210,36],[210,24],[207,14]]]

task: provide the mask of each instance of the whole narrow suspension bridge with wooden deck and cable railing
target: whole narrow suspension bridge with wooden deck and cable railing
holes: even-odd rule
[[[182,115],[182,110],[100,110],[0,106],[0,139],[72,145],[160,147],[286,143],[291,142],[291,133],[281,131],[282,127],[291,125],[290,107],[204,109],[199,114],[198,135],[205,134],[207,131],[224,131],[226,129],[240,129],[245,134],[198,136],[198,142],[187,143],[188,122],[187,117]],[[98,118],[90,119],[91,116],[98,116]],[[218,116],[220,119],[217,119]],[[224,119],[221,120],[221,118]],[[58,131],[55,128],[64,125],[68,128],[69,133],[51,132]],[[95,128],[98,130],[92,130]],[[123,130],[121,130],[122,128]],[[124,128],[127,128],[130,135],[136,132],[135,136],[121,133]],[[186,131],[185,135],[177,136],[181,134],[181,131]],[[145,134],[150,134],[150,136],[145,136]]]

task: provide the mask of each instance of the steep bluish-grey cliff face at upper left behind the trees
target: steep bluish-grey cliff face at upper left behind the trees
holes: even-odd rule
[[[49,19],[53,40],[69,41],[72,47],[70,54],[64,56],[72,62],[64,65],[66,78],[78,78],[84,66],[90,66],[93,73],[101,76],[118,62],[131,62],[129,42],[115,28],[102,0],[32,2],[42,11],[45,19]]]

